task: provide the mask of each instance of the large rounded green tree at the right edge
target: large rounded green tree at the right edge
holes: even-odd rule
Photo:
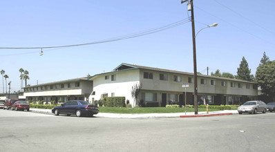
[[[256,79],[264,95],[275,97],[275,61],[260,64],[256,70]]]

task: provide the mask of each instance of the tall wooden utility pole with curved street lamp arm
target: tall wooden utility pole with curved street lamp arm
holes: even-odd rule
[[[198,33],[195,35],[195,21],[194,21],[194,12],[193,12],[193,0],[185,0],[181,1],[181,3],[184,3],[188,1],[188,10],[191,10],[191,22],[192,22],[192,38],[193,38],[193,69],[194,69],[194,107],[195,107],[195,115],[198,115],[198,79],[197,79],[197,57],[196,57],[196,36],[198,33],[205,29],[210,27],[216,27],[218,26],[218,23],[213,23],[211,26],[207,26],[205,28],[202,28],[198,31]]]

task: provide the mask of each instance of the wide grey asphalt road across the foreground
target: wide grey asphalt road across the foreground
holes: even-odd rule
[[[275,151],[275,113],[118,119],[0,109],[0,151]]]

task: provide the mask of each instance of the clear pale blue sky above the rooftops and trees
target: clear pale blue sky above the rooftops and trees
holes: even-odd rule
[[[217,69],[236,75],[243,57],[251,74],[265,52],[275,58],[275,1],[193,0],[198,72]],[[44,84],[109,72],[122,63],[193,73],[191,12],[180,0],[87,1],[2,0],[0,2],[0,70],[21,86],[19,69],[28,70],[28,84]],[[136,35],[177,21],[180,26],[149,35],[65,48]],[[6,47],[35,49],[3,49]],[[6,82],[4,79],[6,91]],[[0,93],[3,82],[0,81]]]

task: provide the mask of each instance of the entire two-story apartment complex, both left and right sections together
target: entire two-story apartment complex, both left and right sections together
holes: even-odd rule
[[[120,64],[113,71],[92,77],[68,79],[60,82],[38,84],[24,88],[26,100],[51,100],[66,102],[84,99],[91,103],[104,97],[125,97],[131,105],[140,101],[156,106],[183,104],[184,88],[187,88],[187,104],[193,104],[193,73],[152,68],[133,64]],[[133,86],[140,85],[138,99],[132,97]],[[209,104],[241,104],[256,99],[257,84],[240,79],[198,75],[198,102]]]

